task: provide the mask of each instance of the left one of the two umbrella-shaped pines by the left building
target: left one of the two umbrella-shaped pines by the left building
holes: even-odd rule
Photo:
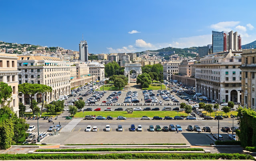
[[[33,110],[32,106],[32,96],[38,93],[38,84],[30,84],[30,83],[23,83],[18,85],[18,91],[24,95],[28,95],[30,99],[30,109]]]

